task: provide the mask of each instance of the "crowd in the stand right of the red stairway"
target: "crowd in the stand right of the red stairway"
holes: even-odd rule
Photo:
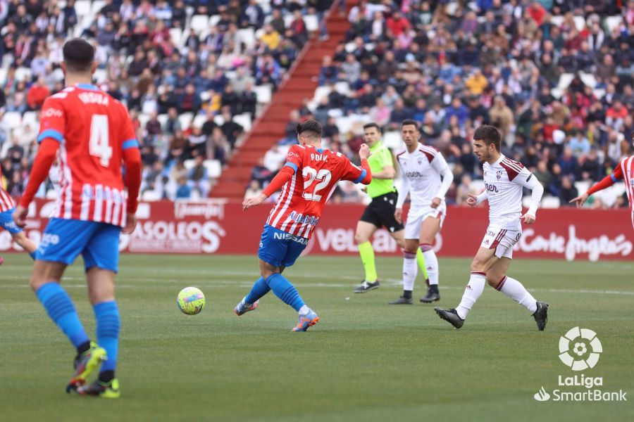
[[[453,166],[448,202],[462,205],[482,186],[473,131],[494,124],[503,153],[557,206],[633,153],[634,1],[363,0],[348,19],[347,39],[323,58],[321,87],[289,127],[317,118],[328,146],[351,158],[363,123],[380,124],[400,148],[400,122],[414,118],[421,141]],[[277,165],[263,163],[273,173]],[[266,183],[268,172],[253,178]],[[589,206],[626,206],[622,193]],[[342,188],[335,200],[358,192]]]

